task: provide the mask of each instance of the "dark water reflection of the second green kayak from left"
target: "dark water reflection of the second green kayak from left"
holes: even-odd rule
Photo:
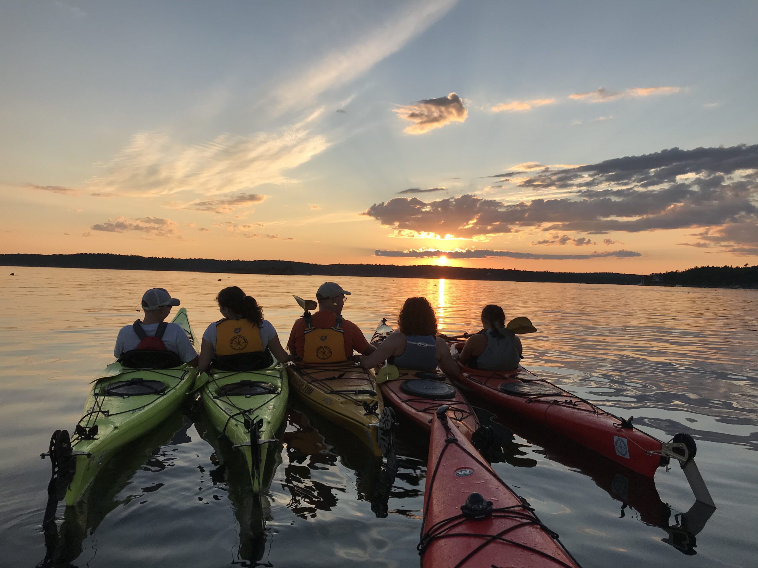
[[[269,488],[277,468],[282,463],[281,450],[284,424],[274,432],[277,442],[268,447],[268,459],[260,472],[260,485],[250,483],[249,463],[246,456],[233,448],[232,442],[221,435],[207,414],[194,415],[195,428],[202,439],[213,448],[211,463],[216,469],[209,473],[213,485],[227,485],[234,517],[240,525],[240,560],[256,563],[265,554],[268,532],[266,521],[271,520]]]

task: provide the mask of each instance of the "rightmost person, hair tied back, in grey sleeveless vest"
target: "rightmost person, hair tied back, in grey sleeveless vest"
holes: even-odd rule
[[[481,332],[471,335],[463,345],[458,361],[471,369],[512,371],[522,359],[521,339],[506,328],[503,308],[489,304],[481,311]]]

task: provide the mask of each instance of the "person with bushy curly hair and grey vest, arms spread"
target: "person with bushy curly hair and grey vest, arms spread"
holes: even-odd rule
[[[370,369],[387,360],[390,364],[416,371],[458,375],[445,340],[437,337],[437,317],[426,298],[408,298],[397,317],[397,331],[381,342],[374,353],[360,357],[362,367]]]

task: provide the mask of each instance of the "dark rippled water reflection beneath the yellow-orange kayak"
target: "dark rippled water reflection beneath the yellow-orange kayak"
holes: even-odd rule
[[[393,478],[387,476],[381,457],[358,438],[346,436],[339,426],[298,401],[290,408],[283,437],[288,460],[283,488],[291,496],[287,507],[298,517],[315,518],[319,511],[337,507],[345,488],[314,479],[312,472],[335,467],[338,460],[356,473],[359,500],[371,502],[371,510],[378,517],[387,516]]]

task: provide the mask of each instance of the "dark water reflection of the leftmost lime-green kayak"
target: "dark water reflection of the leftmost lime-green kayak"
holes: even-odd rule
[[[172,444],[173,440],[182,438],[182,432],[186,431],[189,425],[189,421],[184,423],[183,415],[176,410],[157,428],[117,451],[102,467],[79,501],[65,507],[60,526],[55,522],[58,500],[52,498],[42,523],[45,533],[45,559],[38,566],[70,566],[70,563],[82,554],[84,539],[96,531],[108,513],[143,496],[128,495],[118,498],[124,488],[130,485],[134,474],[140,469],[159,473],[171,463],[174,458],[164,454],[161,446]],[[155,491],[162,485],[158,483],[142,488],[143,494]]]

